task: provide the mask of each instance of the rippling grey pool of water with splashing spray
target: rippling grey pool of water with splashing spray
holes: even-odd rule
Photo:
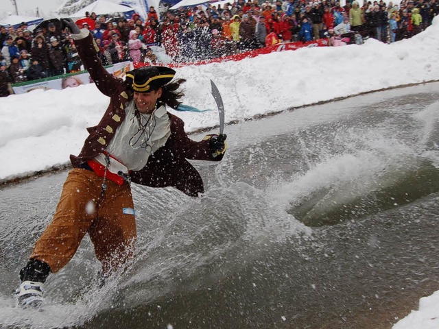
[[[437,87],[228,126],[206,195],[133,186],[130,271],[97,289],[86,238],[43,312],[11,296],[66,173],[3,188],[0,327],[391,328],[438,289]]]

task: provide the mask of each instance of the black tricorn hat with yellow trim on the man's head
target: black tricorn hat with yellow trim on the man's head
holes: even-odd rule
[[[176,71],[166,66],[142,66],[139,69],[126,73],[126,82],[137,93],[147,93],[150,90],[158,90],[170,82]]]

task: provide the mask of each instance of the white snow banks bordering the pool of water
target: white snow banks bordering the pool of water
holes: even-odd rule
[[[226,121],[281,111],[392,86],[439,80],[439,20],[410,40],[385,45],[316,47],[270,53],[240,62],[178,69],[187,79],[184,103],[211,112],[176,112],[187,131],[218,124],[210,80],[217,84]],[[34,90],[0,99],[0,180],[67,164],[78,154],[86,127],[101,118],[108,97],[93,84],[64,90]],[[230,136],[233,138],[233,136]],[[439,328],[439,291],[420,300],[394,326]]]

